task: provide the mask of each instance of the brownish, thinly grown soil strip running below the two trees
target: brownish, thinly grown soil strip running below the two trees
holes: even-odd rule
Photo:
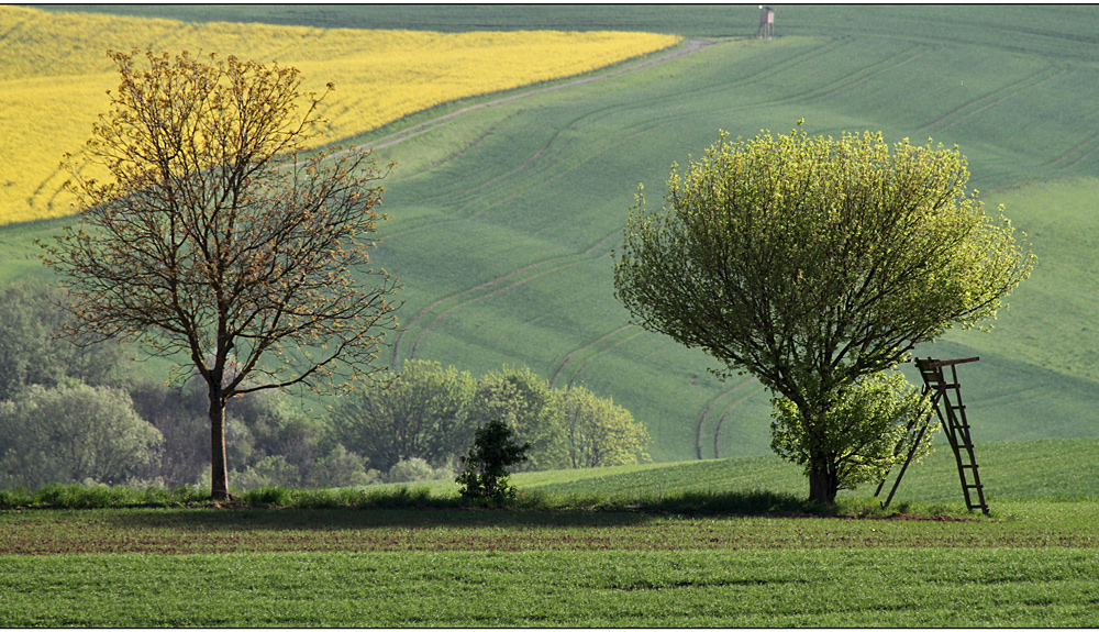
[[[1099,547],[1099,528],[1026,521],[491,510],[126,509],[0,512],[0,555],[291,551]]]

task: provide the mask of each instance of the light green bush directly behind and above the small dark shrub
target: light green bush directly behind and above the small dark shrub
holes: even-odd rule
[[[569,466],[565,414],[560,391],[526,367],[504,368],[477,381],[469,421],[484,425],[501,421],[514,431],[517,441],[530,443],[526,469]]]

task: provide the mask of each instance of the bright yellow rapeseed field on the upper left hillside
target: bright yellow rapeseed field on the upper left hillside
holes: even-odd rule
[[[668,47],[671,35],[556,31],[433,33],[54,13],[0,7],[0,224],[69,214],[60,191],[118,87],[108,49],[218,53],[299,68],[325,99],[324,142],[464,97],[585,73]]]

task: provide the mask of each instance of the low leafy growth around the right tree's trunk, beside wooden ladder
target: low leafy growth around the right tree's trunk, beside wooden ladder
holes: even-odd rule
[[[899,373],[876,373],[836,390],[836,399],[809,432],[804,417],[789,398],[775,400],[771,448],[810,472],[811,456],[826,454],[834,464],[839,489],[878,483],[908,455],[929,402]],[[931,450],[936,426],[923,435],[914,458]]]

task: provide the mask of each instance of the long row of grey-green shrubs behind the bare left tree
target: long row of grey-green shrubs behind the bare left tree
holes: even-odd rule
[[[203,385],[152,382],[130,359],[133,350],[56,337],[63,300],[46,285],[0,290],[0,489],[208,485]],[[582,387],[552,388],[526,368],[475,378],[408,361],[387,385],[331,410],[265,390],[230,401],[226,419],[230,485],[238,489],[453,480],[476,429],[490,420],[531,444],[520,469],[648,458],[647,431],[629,411]]]

